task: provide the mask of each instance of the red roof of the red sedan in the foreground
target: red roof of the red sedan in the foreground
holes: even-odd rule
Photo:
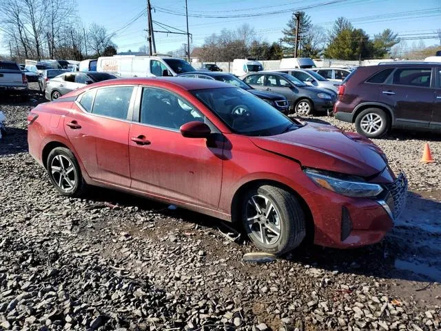
[[[100,81],[94,83],[94,87],[99,86],[113,86],[113,85],[142,85],[149,84],[152,86],[175,86],[182,88],[183,90],[203,90],[205,88],[232,88],[229,83],[223,83],[222,81],[216,81],[212,79],[198,79],[198,78],[184,78],[184,77],[154,77],[154,78],[119,78],[110,79],[107,81]]]

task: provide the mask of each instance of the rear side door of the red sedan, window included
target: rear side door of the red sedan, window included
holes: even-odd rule
[[[84,93],[65,117],[65,132],[92,179],[130,187],[127,117],[133,86]]]

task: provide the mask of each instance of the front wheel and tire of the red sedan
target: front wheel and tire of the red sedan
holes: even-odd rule
[[[243,195],[241,207],[245,232],[264,252],[284,254],[300,245],[306,236],[302,207],[286,190],[271,185],[252,188]],[[265,217],[267,208],[270,212]]]

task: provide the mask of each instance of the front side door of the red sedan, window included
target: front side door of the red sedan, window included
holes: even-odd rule
[[[143,88],[139,123],[129,133],[132,188],[158,197],[218,208],[223,142],[185,138],[179,128],[205,116],[176,94]]]

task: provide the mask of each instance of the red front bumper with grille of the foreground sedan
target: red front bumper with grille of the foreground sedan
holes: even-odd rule
[[[378,199],[351,198],[319,188],[307,196],[314,219],[314,243],[331,248],[356,248],[381,241],[405,205],[407,179],[382,184]]]

